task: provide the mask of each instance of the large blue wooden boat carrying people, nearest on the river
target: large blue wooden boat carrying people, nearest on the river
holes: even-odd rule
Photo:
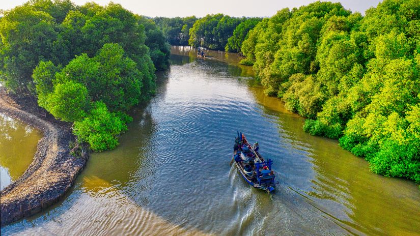
[[[243,179],[254,188],[262,189],[268,193],[275,190],[274,171],[271,169],[273,161],[271,159],[264,160],[263,156],[258,152],[258,143],[251,146],[244,134],[237,132],[233,151],[233,161],[242,174]]]

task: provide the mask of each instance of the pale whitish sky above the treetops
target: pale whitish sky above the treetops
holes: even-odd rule
[[[22,5],[27,0],[2,0],[0,9],[6,10]],[[76,5],[83,5],[92,0],[72,0]],[[93,0],[99,5],[108,4],[109,0]],[[191,16],[202,17],[207,14],[223,13],[230,16],[272,16],[277,10],[283,8],[294,8],[308,5],[314,0],[113,0],[121,4],[125,9],[144,16]],[[381,0],[331,0],[341,2],[344,8],[352,12],[360,12],[364,15],[370,7],[376,7]]]

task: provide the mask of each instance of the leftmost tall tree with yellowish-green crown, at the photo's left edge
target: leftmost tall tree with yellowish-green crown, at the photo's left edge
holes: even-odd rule
[[[48,13],[23,5],[5,11],[0,25],[0,79],[15,93],[28,92],[33,88],[33,69],[51,58],[55,21]]]

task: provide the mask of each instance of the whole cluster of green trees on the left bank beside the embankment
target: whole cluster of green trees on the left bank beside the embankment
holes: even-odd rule
[[[155,70],[169,65],[161,30],[114,3],[34,0],[2,13],[0,82],[75,122],[93,150],[114,148],[131,121],[124,112],[149,98]]]

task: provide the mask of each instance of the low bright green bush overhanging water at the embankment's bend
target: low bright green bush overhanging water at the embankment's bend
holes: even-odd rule
[[[109,112],[104,103],[93,106],[88,116],[74,123],[73,133],[95,152],[114,149],[119,144],[118,136],[127,130],[126,123],[117,113]]]

